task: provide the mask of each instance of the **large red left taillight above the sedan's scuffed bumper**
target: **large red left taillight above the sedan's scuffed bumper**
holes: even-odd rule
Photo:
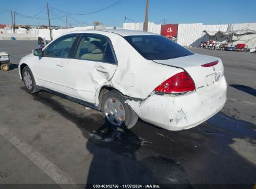
[[[186,71],[177,73],[154,89],[159,93],[185,93],[194,90],[196,90],[194,81]]]

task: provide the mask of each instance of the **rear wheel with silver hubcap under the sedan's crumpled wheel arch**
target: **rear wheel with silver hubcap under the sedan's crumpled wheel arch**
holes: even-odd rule
[[[138,116],[131,107],[125,103],[128,98],[118,91],[112,90],[102,98],[102,114],[111,127],[131,129],[138,121]],[[119,119],[118,119],[119,118]]]

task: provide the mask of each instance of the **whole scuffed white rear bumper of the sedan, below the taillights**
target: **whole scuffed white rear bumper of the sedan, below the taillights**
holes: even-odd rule
[[[171,131],[195,127],[223,108],[227,83],[222,76],[215,90],[207,94],[197,92],[180,96],[153,94],[145,101],[127,101],[136,114],[146,122]]]

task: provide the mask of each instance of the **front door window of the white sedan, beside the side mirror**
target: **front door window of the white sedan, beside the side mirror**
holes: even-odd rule
[[[68,58],[76,35],[67,35],[50,44],[44,50],[44,57]]]

